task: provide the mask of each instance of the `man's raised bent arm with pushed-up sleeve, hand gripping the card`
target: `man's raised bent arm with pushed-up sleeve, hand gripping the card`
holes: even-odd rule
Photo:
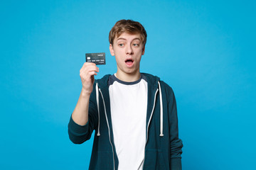
[[[95,81],[94,76],[97,75],[97,72],[99,72],[99,68],[96,67],[96,64],[89,62],[85,62],[80,69],[82,91],[70,118],[70,123],[68,124],[70,140],[74,143],[82,143],[85,142],[88,137],[90,138],[90,134],[87,133],[90,128],[87,126],[89,119],[88,111],[90,94],[92,93],[93,83]]]

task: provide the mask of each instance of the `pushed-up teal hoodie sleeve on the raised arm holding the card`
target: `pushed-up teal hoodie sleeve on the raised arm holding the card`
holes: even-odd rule
[[[95,94],[95,90],[92,91],[92,94]],[[88,122],[86,125],[78,125],[74,122],[72,116],[70,117],[68,123],[68,135],[70,140],[75,144],[82,144],[86,140],[90,140],[93,130],[97,128],[97,106],[94,102],[95,95],[92,94],[90,96]]]

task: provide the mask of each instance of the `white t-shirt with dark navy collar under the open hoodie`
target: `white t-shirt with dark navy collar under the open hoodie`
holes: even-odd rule
[[[142,75],[142,74],[141,74]],[[109,79],[110,108],[118,170],[141,170],[146,142],[147,82]]]

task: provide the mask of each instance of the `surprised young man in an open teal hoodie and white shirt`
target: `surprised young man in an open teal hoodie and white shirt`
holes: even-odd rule
[[[135,21],[117,21],[109,40],[117,73],[95,80],[99,68],[83,64],[70,140],[81,144],[95,130],[89,169],[181,169],[174,91],[159,77],[139,72],[146,30]]]

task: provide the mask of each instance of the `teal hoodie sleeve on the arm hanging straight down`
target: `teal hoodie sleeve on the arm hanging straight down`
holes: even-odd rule
[[[171,170],[181,169],[182,141],[178,138],[178,116],[174,91],[169,90],[169,125],[170,125],[170,147],[171,147]]]

